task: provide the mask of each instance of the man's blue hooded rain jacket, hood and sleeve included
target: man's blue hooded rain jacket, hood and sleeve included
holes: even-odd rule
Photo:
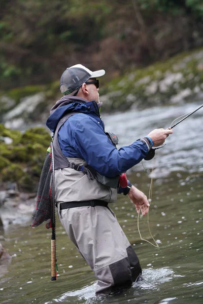
[[[95,101],[62,97],[54,106],[47,127],[54,132],[62,116],[73,111],[79,113],[71,116],[58,132],[58,141],[65,157],[84,159],[97,172],[108,177],[126,172],[146,157],[147,145],[140,140],[119,150],[114,147],[105,134]]]

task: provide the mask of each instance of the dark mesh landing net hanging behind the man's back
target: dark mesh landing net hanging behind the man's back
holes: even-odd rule
[[[51,219],[54,223],[55,212],[54,208],[54,176],[52,167],[52,154],[48,152],[40,176],[38,186],[36,208],[32,214],[32,227],[37,227],[44,221]],[[53,218],[54,217],[54,218]]]

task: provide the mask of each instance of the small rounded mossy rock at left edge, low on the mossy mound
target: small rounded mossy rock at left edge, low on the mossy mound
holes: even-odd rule
[[[20,165],[11,164],[2,170],[2,180],[18,182],[24,174],[25,173]]]

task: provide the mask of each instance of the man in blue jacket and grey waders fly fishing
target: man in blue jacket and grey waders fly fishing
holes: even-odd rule
[[[60,80],[63,97],[51,109],[47,126],[54,136],[55,200],[71,241],[85,258],[97,281],[96,294],[130,286],[142,269],[108,203],[117,193],[128,195],[143,215],[147,197],[119,176],[145,158],[152,146],[163,144],[172,130],[156,129],[117,150],[117,136],[106,134],[99,115],[99,82],[105,70],[92,72],[81,64],[67,68]]]

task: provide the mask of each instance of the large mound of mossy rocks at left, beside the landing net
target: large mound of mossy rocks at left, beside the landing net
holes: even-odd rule
[[[6,143],[6,139],[11,140]],[[24,133],[0,124],[0,181],[15,182],[20,191],[37,192],[50,134],[41,127]]]

